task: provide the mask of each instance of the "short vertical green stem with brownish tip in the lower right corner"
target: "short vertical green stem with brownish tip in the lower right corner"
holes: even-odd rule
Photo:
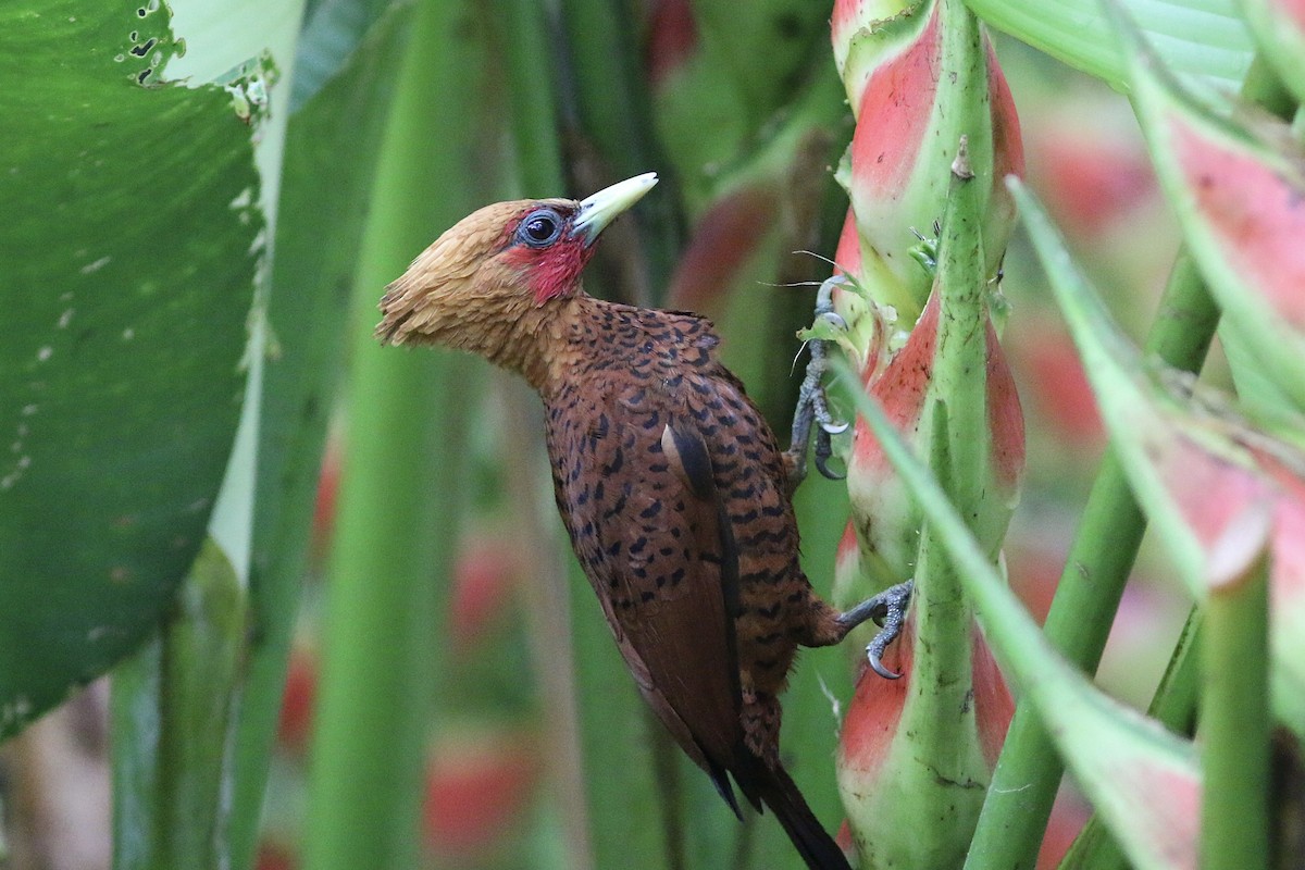
[[[1268,561],[1210,591],[1201,664],[1201,866],[1268,866]]]

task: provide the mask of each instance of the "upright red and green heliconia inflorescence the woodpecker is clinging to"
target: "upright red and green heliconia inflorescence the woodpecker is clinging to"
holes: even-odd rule
[[[1018,501],[1023,416],[997,288],[1023,171],[1019,121],[960,3],[839,0],[834,56],[857,124],[838,179],[838,340],[996,562]],[[937,236],[937,239],[933,239]],[[903,640],[848,704],[839,787],[861,867],[959,866],[1013,704],[955,570],[864,420],[835,596],[915,578]],[[919,819],[928,818],[928,826]]]

